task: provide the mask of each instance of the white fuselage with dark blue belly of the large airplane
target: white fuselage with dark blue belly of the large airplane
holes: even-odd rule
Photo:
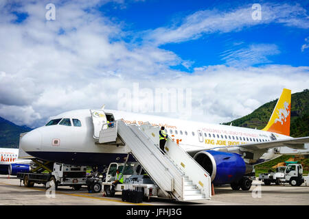
[[[148,122],[151,125],[164,126],[168,135],[188,152],[237,147],[240,144],[271,141],[274,138],[277,140],[290,138],[290,136],[257,129],[213,125],[115,110],[104,110],[104,112],[113,114],[115,120],[122,119],[127,124],[141,125]],[[126,157],[122,146],[106,147],[95,144],[90,110],[73,110],[51,119],[56,118],[69,118],[71,123],[73,119],[78,119],[81,126],[50,125],[34,129],[21,139],[21,147],[25,152],[41,159],[78,165],[122,162],[122,159]],[[265,156],[269,160],[277,155],[269,153]]]

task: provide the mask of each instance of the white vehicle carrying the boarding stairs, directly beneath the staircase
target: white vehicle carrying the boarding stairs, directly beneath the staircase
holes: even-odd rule
[[[117,169],[122,172],[124,183],[119,183],[113,188]],[[108,166],[102,188],[106,196],[109,197],[115,196],[115,192],[124,194],[124,190],[139,190],[148,200],[151,196],[157,196],[159,190],[138,162],[111,163]]]

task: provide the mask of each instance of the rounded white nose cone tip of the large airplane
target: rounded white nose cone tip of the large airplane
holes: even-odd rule
[[[23,151],[40,151],[42,142],[42,133],[34,129],[21,138],[21,149]]]

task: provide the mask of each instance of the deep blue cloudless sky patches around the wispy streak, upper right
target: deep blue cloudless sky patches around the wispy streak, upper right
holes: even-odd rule
[[[308,9],[309,1],[254,1],[262,5],[292,4]],[[108,3],[100,7],[102,14],[115,18],[116,21],[126,23],[126,31],[141,32],[162,26],[181,24],[186,16],[196,11],[219,10],[229,12],[236,8],[252,5],[252,1],[137,1],[130,2],[119,9],[117,3]],[[252,10],[253,12],[253,10]],[[307,18],[306,18],[307,16]],[[302,14],[304,22],[309,23],[308,14]],[[229,33],[207,34],[195,40],[185,42],[170,42],[160,46],[178,54],[184,60],[192,61],[191,68],[201,65],[227,64],[224,59],[226,51],[238,51],[247,48],[249,44],[273,44],[277,52],[266,53],[267,61],[258,60],[250,65],[259,66],[265,63],[289,64],[291,66],[306,66],[308,64],[308,50],[301,51],[301,46],[308,37],[308,29],[288,27],[282,23],[267,23],[249,27],[242,31]],[[185,70],[183,66],[174,66]]]

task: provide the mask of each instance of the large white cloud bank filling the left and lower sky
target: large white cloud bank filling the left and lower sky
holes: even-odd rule
[[[67,110],[103,104],[117,110],[119,89],[132,89],[133,83],[139,82],[142,88],[151,90],[191,88],[192,117],[185,119],[222,123],[276,99],[284,87],[293,92],[308,88],[308,67],[210,65],[196,67],[193,73],[172,70],[171,66],[179,64],[190,68],[192,61],[182,60],[156,44],[124,42],[126,32],[121,23],[98,16],[93,10],[95,3],[79,3],[81,6],[59,1],[56,21],[45,20],[45,3],[24,3],[19,10],[29,16],[23,23],[13,23],[14,16],[0,3],[1,18],[5,16],[0,20],[0,116],[34,127]],[[210,15],[216,21],[217,16]],[[192,23],[192,19],[187,18],[184,24]],[[198,22],[192,24],[195,29]],[[236,26],[220,28],[231,31]],[[59,34],[61,29],[63,33]],[[269,55],[260,48],[249,47],[255,54],[260,53],[260,59]],[[236,51],[233,58],[244,54]],[[253,62],[252,54],[247,60]]]

